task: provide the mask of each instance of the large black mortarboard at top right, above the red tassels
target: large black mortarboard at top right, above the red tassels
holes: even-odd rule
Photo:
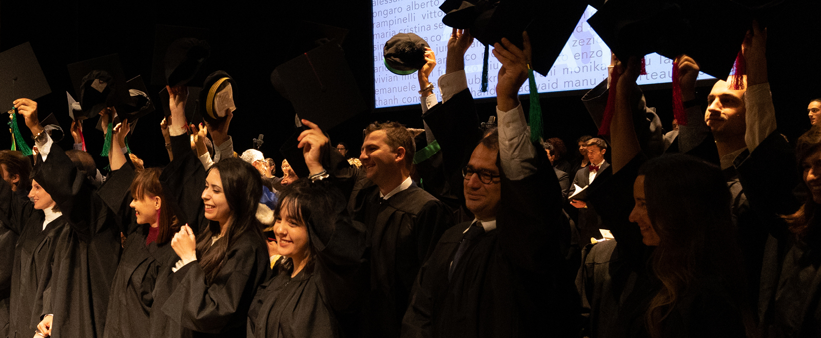
[[[726,79],[750,29],[750,12],[729,0],[609,0],[587,22],[622,61],[687,54],[704,73]]]

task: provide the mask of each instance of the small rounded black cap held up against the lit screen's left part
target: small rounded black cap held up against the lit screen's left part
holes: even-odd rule
[[[385,43],[383,57],[388,71],[397,75],[410,75],[424,66],[424,48],[430,48],[419,35],[399,33]]]

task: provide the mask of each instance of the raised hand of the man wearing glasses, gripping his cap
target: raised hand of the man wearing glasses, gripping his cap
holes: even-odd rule
[[[497,106],[502,112],[519,106],[519,89],[527,80],[530,38],[527,32],[523,32],[521,36],[525,41],[524,50],[505,38],[502,38],[502,43],[493,44],[493,56],[502,62],[496,85]]]

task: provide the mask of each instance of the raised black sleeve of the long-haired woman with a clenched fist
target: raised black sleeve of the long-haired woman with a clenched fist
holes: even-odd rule
[[[208,226],[202,192],[206,171],[190,147],[188,135],[171,137],[174,160],[163,169],[159,180],[163,194],[181,224],[188,224],[195,234]],[[164,202],[164,201],[163,201]]]

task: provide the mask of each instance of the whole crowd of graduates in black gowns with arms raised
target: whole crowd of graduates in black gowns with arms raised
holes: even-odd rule
[[[534,48],[516,41],[491,49],[490,122],[466,79],[474,37],[454,28],[438,85],[430,48],[415,69],[424,130],[374,122],[347,158],[297,117],[283,177],[234,152],[223,71],[199,94],[180,85],[193,75],[166,79],[165,167],[130,153],[133,112],[90,103],[103,72],[81,76],[74,113],[100,116],[107,168],[81,118],[63,149],[17,98],[34,153],[0,151],[0,337],[821,336],[821,126],[778,132],[766,30],[753,22],[745,74],[707,102],[699,60],[676,58],[668,133],[636,85],[641,55],[613,55],[582,98],[601,128],[580,159],[540,135],[532,103],[525,117]]]

